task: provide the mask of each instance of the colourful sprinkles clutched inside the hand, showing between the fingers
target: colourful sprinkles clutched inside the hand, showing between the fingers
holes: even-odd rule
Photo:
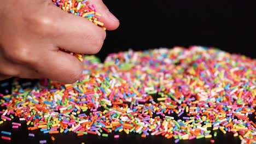
[[[94,4],[90,5],[88,0],[53,0],[53,4],[57,7],[60,7],[62,10],[67,11],[68,13],[82,16],[85,19],[93,22],[95,25],[100,26],[106,30],[104,23],[98,21],[101,17],[101,14],[97,13],[96,6]],[[74,55],[79,59],[79,61],[83,61],[83,56],[81,54],[69,52],[63,49],[61,50]]]

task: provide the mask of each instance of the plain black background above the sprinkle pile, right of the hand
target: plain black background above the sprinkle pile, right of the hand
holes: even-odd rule
[[[104,1],[120,20],[98,56],[157,47],[203,45],[255,58],[254,1]]]

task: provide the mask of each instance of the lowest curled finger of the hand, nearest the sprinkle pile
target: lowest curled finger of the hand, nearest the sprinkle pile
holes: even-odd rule
[[[43,77],[63,83],[77,81],[83,72],[82,62],[60,50],[48,52],[34,67]]]

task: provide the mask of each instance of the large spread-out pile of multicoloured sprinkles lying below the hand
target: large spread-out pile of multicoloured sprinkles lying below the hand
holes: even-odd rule
[[[176,143],[214,143],[222,131],[255,143],[255,80],[255,59],[214,47],[129,50],[110,54],[104,63],[85,56],[83,77],[73,84],[42,80],[23,89],[16,83],[11,94],[0,95],[0,123],[19,117],[29,131],[44,134],[114,133],[121,139],[119,133],[137,133]]]

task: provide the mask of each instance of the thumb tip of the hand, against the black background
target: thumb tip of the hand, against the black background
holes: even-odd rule
[[[91,0],[90,3],[94,4],[97,13],[101,14],[101,18],[99,21],[104,23],[104,27],[106,27],[108,30],[114,30],[118,28],[119,20],[112,13],[110,13],[102,0]]]

